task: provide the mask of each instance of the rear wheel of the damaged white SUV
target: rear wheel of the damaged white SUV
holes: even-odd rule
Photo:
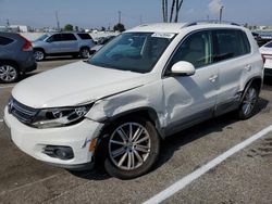
[[[255,84],[245,89],[240,105],[237,110],[239,119],[248,119],[254,115],[259,99],[259,87]]]

